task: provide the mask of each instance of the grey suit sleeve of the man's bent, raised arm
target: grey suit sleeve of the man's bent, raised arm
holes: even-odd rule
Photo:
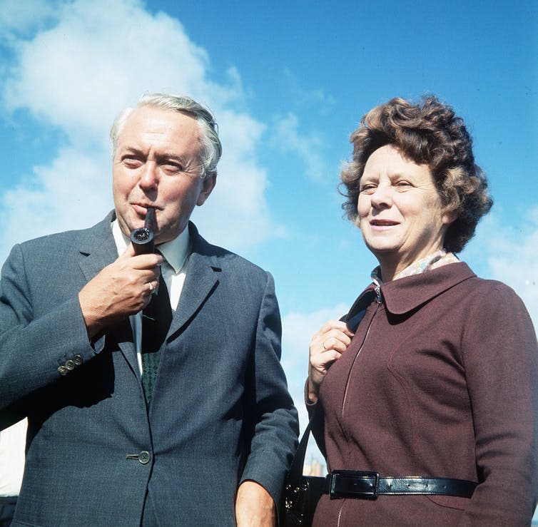
[[[36,270],[26,266],[24,249],[16,245],[1,272],[0,429],[26,416],[29,396],[95,356],[77,293],[62,292],[59,300],[54,292],[59,277],[54,287],[48,280],[54,270],[37,279]],[[38,309],[37,295],[45,299]]]

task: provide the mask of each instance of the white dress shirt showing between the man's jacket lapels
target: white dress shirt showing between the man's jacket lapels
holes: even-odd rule
[[[114,220],[111,225],[112,235],[114,237],[114,242],[116,242],[116,249],[118,250],[119,256],[125,252],[128,244],[131,243],[131,240],[121,232],[118,220]],[[166,284],[166,287],[168,287],[168,296],[170,297],[172,312],[176,312],[181,290],[183,289],[183,283],[185,282],[188,257],[191,254],[188,227],[183,229],[183,232],[170,242],[158,245],[158,250],[164,258],[161,265],[161,275],[163,275],[164,283]],[[129,319],[131,321],[131,327],[133,328],[133,339],[136,347],[138,368],[142,373],[142,312],[131,314]]]

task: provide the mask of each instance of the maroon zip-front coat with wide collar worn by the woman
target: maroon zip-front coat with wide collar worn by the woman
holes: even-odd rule
[[[328,469],[479,485],[472,498],[324,495],[314,525],[528,526],[538,491],[538,348],[522,301],[463,262],[381,291],[320,387],[314,434]]]

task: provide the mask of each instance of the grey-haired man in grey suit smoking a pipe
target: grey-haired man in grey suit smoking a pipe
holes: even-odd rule
[[[141,98],[111,131],[115,210],[6,261],[0,424],[29,422],[14,526],[273,525],[297,416],[272,277],[189,222],[215,128],[190,98]],[[149,208],[159,252],[137,255]]]

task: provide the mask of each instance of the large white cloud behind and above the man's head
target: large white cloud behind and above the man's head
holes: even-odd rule
[[[13,24],[25,26],[23,15]],[[36,23],[26,15],[27,25]],[[203,235],[243,250],[281,230],[270,218],[267,175],[255,158],[265,127],[235,109],[243,98],[235,68],[225,83],[210,81],[206,51],[178,20],[150,14],[138,0],[66,2],[56,16],[53,27],[31,39],[15,37],[16,61],[2,82],[4,108],[28,110],[45,129],[64,133],[67,143],[49,165],[21,175],[23,181],[0,196],[13,205],[9,221],[19,225],[17,240],[90,225],[111,207],[108,129],[121,108],[153,91],[188,93],[219,123],[218,185],[196,214]]]

